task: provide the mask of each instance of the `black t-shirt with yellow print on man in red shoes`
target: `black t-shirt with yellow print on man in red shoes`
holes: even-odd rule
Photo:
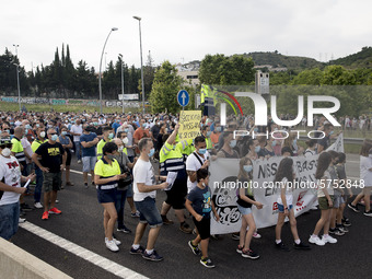
[[[50,173],[60,172],[62,155],[65,154],[62,144],[59,142],[56,142],[55,144],[45,142],[38,147],[35,153],[42,156],[42,165],[48,167]]]

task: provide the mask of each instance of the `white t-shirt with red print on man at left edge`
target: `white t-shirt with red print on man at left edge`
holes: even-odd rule
[[[0,155],[0,181],[4,178],[4,183],[12,187],[21,187],[21,167],[15,156],[4,158]],[[0,206],[18,202],[20,194],[14,191],[4,191]]]

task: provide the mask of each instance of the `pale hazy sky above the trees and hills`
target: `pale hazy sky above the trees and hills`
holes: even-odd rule
[[[106,61],[118,54],[140,66],[138,21],[142,18],[143,60],[156,65],[200,60],[206,54],[278,50],[317,60],[336,59],[371,46],[370,0],[14,0],[1,1],[0,51],[14,53],[31,70],[69,44],[73,63],[96,71],[106,36]],[[105,57],[103,58],[103,63]]]

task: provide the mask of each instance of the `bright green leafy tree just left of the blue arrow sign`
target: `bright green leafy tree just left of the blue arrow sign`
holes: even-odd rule
[[[177,74],[175,66],[170,61],[164,61],[154,74],[154,81],[150,94],[152,113],[179,112],[177,93],[182,89],[184,80]]]

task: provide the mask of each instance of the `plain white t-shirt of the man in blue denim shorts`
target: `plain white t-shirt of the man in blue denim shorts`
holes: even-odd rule
[[[142,201],[147,197],[155,198],[156,190],[148,191],[148,193],[140,193],[137,187],[137,183],[144,183],[144,186],[152,186],[155,185],[156,179],[154,175],[154,170],[152,164],[141,159],[137,160],[137,163],[133,167],[133,200],[135,201]]]

